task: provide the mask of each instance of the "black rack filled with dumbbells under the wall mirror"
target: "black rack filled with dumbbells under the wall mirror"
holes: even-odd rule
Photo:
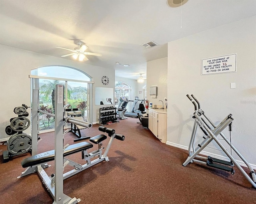
[[[107,125],[111,123],[119,123],[116,117],[116,107],[108,106],[100,108],[99,111],[99,123],[101,125]]]

